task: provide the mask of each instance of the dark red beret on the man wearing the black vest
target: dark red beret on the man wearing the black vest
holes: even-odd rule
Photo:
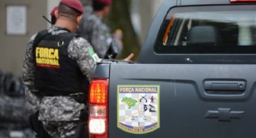
[[[78,13],[84,13],[84,7],[80,0],[61,0],[60,3],[66,5],[67,7],[73,8],[74,10],[78,11]]]

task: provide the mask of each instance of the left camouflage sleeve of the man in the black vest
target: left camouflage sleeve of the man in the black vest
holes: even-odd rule
[[[33,42],[36,34],[31,37],[27,45],[25,59],[23,60],[22,79],[25,86],[25,94],[28,101],[30,113],[39,110],[41,97],[34,86],[34,65],[33,65]]]

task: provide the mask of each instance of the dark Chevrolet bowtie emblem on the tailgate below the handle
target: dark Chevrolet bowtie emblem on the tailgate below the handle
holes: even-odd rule
[[[231,111],[230,108],[219,108],[218,110],[208,110],[205,118],[217,118],[219,121],[231,121],[231,119],[241,119],[243,111]]]

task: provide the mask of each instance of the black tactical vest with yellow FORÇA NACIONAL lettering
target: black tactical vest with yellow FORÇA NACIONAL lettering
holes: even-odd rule
[[[60,96],[83,92],[84,77],[67,47],[76,34],[51,35],[39,32],[33,44],[35,87],[45,95]]]

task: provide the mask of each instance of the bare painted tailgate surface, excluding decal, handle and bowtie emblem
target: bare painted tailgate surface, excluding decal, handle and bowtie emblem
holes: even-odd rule
[[[111,65],[109,137],[255,137],[253,70],[256,65]],[[246,91],[208,94],[205,80],[244,81]],[[117,85],[160,85],[160,129],[136,135],[117,128]],[[218,109],[244,113],[225,121],[205,118]]]

